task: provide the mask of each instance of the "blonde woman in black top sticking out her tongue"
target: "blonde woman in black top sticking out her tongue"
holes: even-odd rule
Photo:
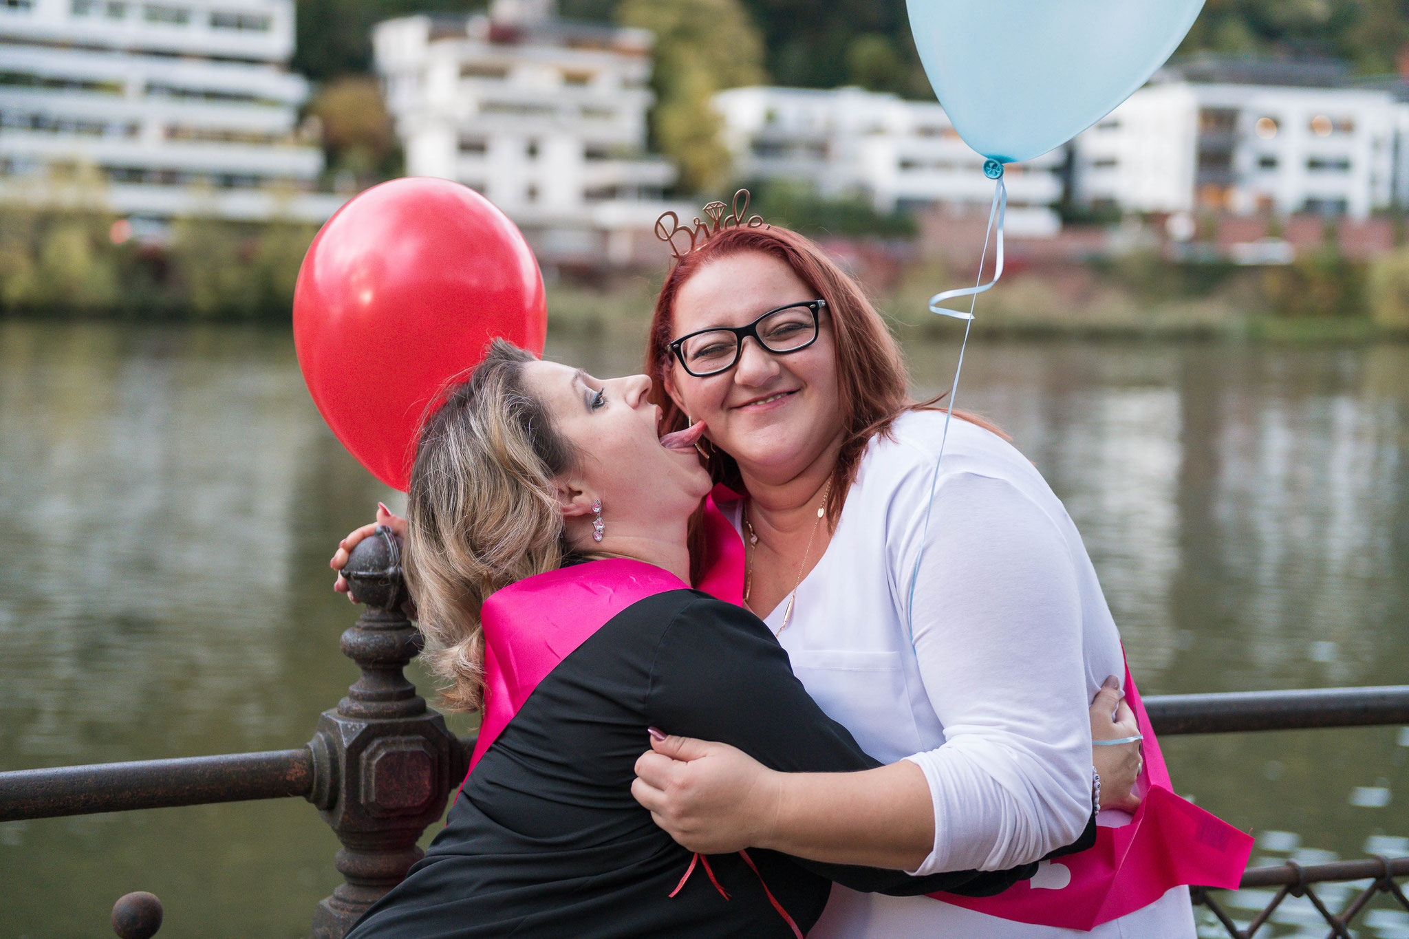
[[[349,939],[800,939],[831,881],[986,895],[1031,877],[1034,864],[910,877],[706,856],[637,804],[637,757],[664,728],[772,770],[874,780],[855,809],[913,824],[886,817],[893,767],[821,714],[766,626],[689,587],[686,531],[710,490],[703,428],[661,436],[650,391],[645,376],[600,382],[496,342],[427,421],[407,579],[447,704],[483,708],[483,722],[445,829]],[[1076,849],[1095,838],[1088,817]]]

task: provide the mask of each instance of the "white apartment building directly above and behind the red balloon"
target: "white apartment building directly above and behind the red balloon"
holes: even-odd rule
[[[665,258],[657,217],[689,211],[662,201],[675,168],[645,153],[652,44],[643,30],[559,20],[548,0],[372,34],[406,172],[479,190],[541,260],[590,266]]]

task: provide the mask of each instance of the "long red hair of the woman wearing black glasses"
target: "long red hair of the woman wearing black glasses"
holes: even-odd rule
[[[861,455],[871,438],[876,434],[889,435],[890,425],[906,411],[937,410],[936,403],[940,398],[916,401],[910,397],[905,358],[895,336],[871,305],[861,284],[827,258],[812,239],[776,225],[737,227],[720,231],[700,248],[681,258],[665,277],[661,294],[655,300],[645,351],[645,373],[651,376],[654,386],[652,398],[664,412],[662,432],[682,429],[689,420],[665,394],[665,374],[674,362],[669,344],[675,328],[675,300],[681,287],[712,260],[747,252],[759,252],[782,260],[814,296],[827,301],[831,314],[844,434],[837,466],[831,474],[831,496],[827,500],[827,515],[830,524],[836,525],[847,490],[857,479]],[[954,411],[954,417],[978,424],[1006,439],[1000,429],[978,415]],[[710,455],[704,465],[714,481],[744,491],[743,476],[734,458],[717,446],[709,449]]]

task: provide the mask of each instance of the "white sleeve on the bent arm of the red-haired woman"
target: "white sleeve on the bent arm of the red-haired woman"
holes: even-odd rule
[[[927,489],[929,473],[906,484]],[[920,557],[910,628],[945,736],[907,757],[924,770],[936,819],[917,870],[996,870],[1071,842],[1091,812],[1076,566],[1058,525],[1006,480],[955,473],[934,517],[945,524],[926,532],[905,519],[888,538],[892,569]]]

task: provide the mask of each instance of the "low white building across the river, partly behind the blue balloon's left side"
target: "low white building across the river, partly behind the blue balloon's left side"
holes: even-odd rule
[[[878,211],[931,206],[986,210],[983,158],[934,101],[857,87],[741,87],[714,96],[737,179],[810,183],[820,196],[865,194]],[[1061,151],[1005,173],[1007,231],[1047,237],[1061,227]]]

